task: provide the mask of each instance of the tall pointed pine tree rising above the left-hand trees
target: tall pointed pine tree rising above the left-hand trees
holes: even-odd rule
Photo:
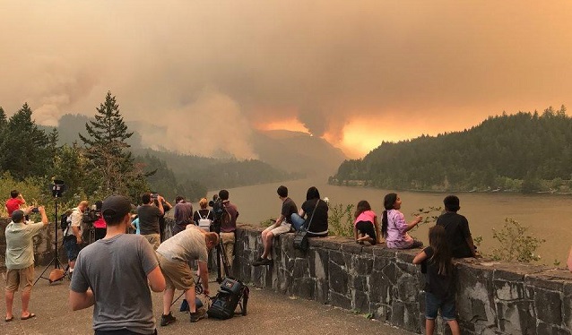
[[[79,134],[86,147],[86,157],[103,180],[104,194],[131,193],[130,187],[140,185],[136,179],[143,177],[135,168],[126,143],[133,133],[127,132],[116,97],[110,91],[96,110],[95,121],[85,124],[87,136]]]

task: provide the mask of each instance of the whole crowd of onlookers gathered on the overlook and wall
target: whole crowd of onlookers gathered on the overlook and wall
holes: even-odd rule
[[[306,201],[298,209],[290,199],[288,188],[276,190],[282,202],[281,212],[273,224],[261,234],[263,251],[252,265],[273,264],[273,239],[281,234],[306,229],[309,237],[328,236],[328,203],[320,197],[316,187],[308,188]],[[68,211],[64,246],[69,260],[70,305],[74,310],[90,307],[93,310],[93,329],[96,334],[123,331],[126,334],[156,333],[152,314],[151,290],[163,293],[163,311],[160,325],[175,322],[170,311],[175,289],[184,290],[189,305],[190,321],[204,318],[204,307],[195,305],[195,280],[192,264],[197,262],[197,274],[204,293],[209,294],[208,259],[216,245],[223,245],[226,258],[232,266],[237,206],[230,202],[229,192],[221,190],[218,197],[228,219],[222,219],[218,231],[212,231],[215,213],[207,206],[206,198],[194,210],[191,202],[178,196],[175,206],[156,193],[144,193],[141,205],[134,209],[123,196],[114,195],[95,203],[97,219],[93,222],[95,241],[83,245],[82,218],[89,208],[86,201]],[[409,236],[408,231],[419,225],[422,218],[406,222],[400,211],[402,200],[396,193],[386,194],[381,224],[368,201],[357,203],[353,232],[358,244],[377,245],[386,242],[388,248],[420,248],[422,243]],[[413,263],[421,264],[426,274],[426,329],[432,333],[438,310],[449,323],[454,334],[459,333],[455,321],[455,291],[453,258],[478,257],[467,219],[457,213],[459,198],[444,199],[445,212],[429,229],[429,246],[415,256]],[[165,212],[174,208],[172,236],[165,234]],[[33,210],[39,211],[41,222],[27,222]],[[22,193],[13,191],[6,201],[6,210],[12,222],[6,232],[6,316],[13,320],[14,292],[22,286],[22,314],[26,320],[30,313],[29,301],[33,278],[32,238],[48,226],[43,207],[26,206]],[[161,219],[163,223],[161,224]],[[134,234],[129,234],[129,233]],[[572,254],[572,253],[571,253]],[[114,283],[129,282],[133,289],[118,290]],[[196,282],[198,283],[198,281]]]

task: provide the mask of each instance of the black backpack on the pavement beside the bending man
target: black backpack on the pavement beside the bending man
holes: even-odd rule
[[[234,316],[237,305],[240,305],[241,314],[246,315],[249,292],[250,289],[240,280],[229,277],[223,279],[221,288],[212,298],[211,307],[206,311],[206,314],[210,318],[230,319]]]

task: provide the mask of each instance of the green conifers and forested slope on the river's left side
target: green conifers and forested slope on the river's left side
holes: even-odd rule
[[[74,129],[80,141],[60,143],[56,127],[36,125],[27,103],[7,117],[0,107],[0,192],[22,190],[30,202],[47,204],[50,185],[63,180],[60,202],[101,200],[126,194],[134,203],[143,192],[158,192],[172,199],[183,195],[197,201],[208,189],[267,183],[290,177],[264,162],[251,159],[209,159],[139,148],[129,144],[129,132],[115,96],[108,92],[96,114]],[[82,129],[83,128],[83,129]],[[165,159],[178,161],[186,171],[175,175]]]

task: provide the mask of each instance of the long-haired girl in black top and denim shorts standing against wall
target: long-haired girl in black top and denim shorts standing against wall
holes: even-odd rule
[[[435,331],[435,319],[438,310],[453,335],[460,335],[456,321],[455,285],[453,282],[453,263],[451,249],[447,244],[445,228],[429,228],[429,246],[413,259],[413,264],[421,264],[425,273],[425,334]]]

